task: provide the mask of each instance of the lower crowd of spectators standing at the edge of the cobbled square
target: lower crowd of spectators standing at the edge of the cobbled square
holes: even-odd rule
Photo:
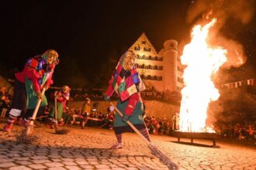
[[[92,110],[92,113],[87,115],[85,127],[98,127],[112,129],[114,120],[115,111],[109,111],[108,113],[102,113],[95,109]],[[81,121],[84,116],[81,114],[79,109],[67,109],[63,115],[64,124],[73,124],[81,126]],[[150,134],[159,134],[159,135],[171,135],[171,131],[178,130],[178,114],[175,114],[172,119],[167,118],[158,118],[150,115],[144,116],[145,124]],[[237,139],[247,139],[255,140],[256,131],[254,124],[235,124],[226,125],[220,124],[215,126],[216,133],[220,138],[237,138]]]

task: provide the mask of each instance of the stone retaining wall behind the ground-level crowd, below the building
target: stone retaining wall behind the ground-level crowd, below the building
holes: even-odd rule
[[[116,101],[112,102],[116,105]],[[81,109],[83,106],[83,101],[71,101],[68,103],[68,107],[74,107],[76,109]],[[98,111],[105,113],[109,108],[109,103],[106,101],[92,101],[92,106]],[[179,112],[179,106],[167,104],[157,100],[146,100],[146,114],[159,118],[171,119],[175,112]]]

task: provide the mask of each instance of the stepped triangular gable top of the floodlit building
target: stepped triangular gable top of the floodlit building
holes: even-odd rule
[[[139,47],[139,46],[140,46],[140,49],[144,49],[144,47],[150,48],[151,49],[150,53],[157,54],[156,49],[154,49],[154,46],[151,44],[150,40],[147,39],[147,36],[144,32],[142,32],[141,36],[137,39],[137,41],[134,42],[132,46],[130,46],[130,50],[133,51],[135,47]]]

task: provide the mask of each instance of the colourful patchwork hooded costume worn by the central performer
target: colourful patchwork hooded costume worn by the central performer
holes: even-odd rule
[[[128,114],[130,116],[129,121],[132,124],[144,127],[144,100],[140,97],[140,91],[145,89],[144,83],[135,67],[130,71],[124,69],[124,56],[125,55],[121,57],[116,66],[116,70],[112,74],[112,78],[109,81],[109,87],[106,90],[106,95],[111,97],[112,93],[116,91],[119,95],[116,107],[123,114]],[[117,131],[117,134],[126,131],[125,127],[127,127],[127,124],[122,121],[122,117],[120,117],[119,114],[116,114],[115,119],[114,128],[116,128],[115,131]]]

